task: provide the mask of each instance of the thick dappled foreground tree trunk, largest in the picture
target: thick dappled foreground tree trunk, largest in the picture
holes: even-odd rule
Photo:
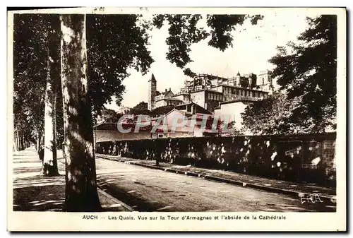
[[[61,87],[64,107],[66,197],[64,210],[100,211],[88,95],[85,15],[61,20]]]

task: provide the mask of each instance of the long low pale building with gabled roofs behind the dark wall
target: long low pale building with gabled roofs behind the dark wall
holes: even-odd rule
[[[177,121],[180,125],[175,125],[175,119],[184,119]],[[205,128],[201,126],[201,121],[207,119]],[[140,121],[138,133],[135,132],[138,124],[138,115],[133,119],[124,119],[119,123],[102,122],[94,126],[95,143],[102,141],[130,141],[148,138],[175,138],[186,136],[204,136],[204,133],[215,133],[211,131],[213,126],[213,113],[189,102],[174,107],[167,114],[160,117],[150,118],[148,121]],[[183,125],[181,125],[183,124]],[[119,131],[119,127],[124,130],[130,130],[128,133]],[[155,130],[152,130],[155,129]]]

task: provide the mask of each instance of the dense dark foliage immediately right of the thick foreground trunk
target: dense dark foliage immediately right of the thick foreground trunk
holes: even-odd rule
[[[120,105],[125,90],[122,81],[128,69],[147,73],[153,60],[147,49],[148,28],[138,25],[138,15],[88,15],[88,81],[93,112],[104,104]]]

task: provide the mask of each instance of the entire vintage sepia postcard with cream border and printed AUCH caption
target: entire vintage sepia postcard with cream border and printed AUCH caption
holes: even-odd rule
[[[8,11],[8,231],[346,231],[346,34],[345,8]]]

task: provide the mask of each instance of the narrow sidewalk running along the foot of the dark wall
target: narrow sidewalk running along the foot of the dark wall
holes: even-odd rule
[[[225,182],[237,186],[246,186],[252,189],[275,192],[300,198],[302,196],[311,196],[318,194],[325,203],[336,203],[336,190],[334,188],[318,186],[316,184],[298,184],[276,179],[266,179],[248,174],[239,174],[236,172],[227,172],[218,169],[203,169],[190,165],[172,165],[160,162],[159,166],[155,165],[155,160],[137,160],[128,157],[118,157],[113,155],[96,154],[107,160],[115,160],[118,162],[126,162],[131,165],[149,167],[151,169],[160,169],[166,172],[174,172],[177,174],[185,174],[193,177],[201,177],[203,179],[213,180],[217,182]]]

